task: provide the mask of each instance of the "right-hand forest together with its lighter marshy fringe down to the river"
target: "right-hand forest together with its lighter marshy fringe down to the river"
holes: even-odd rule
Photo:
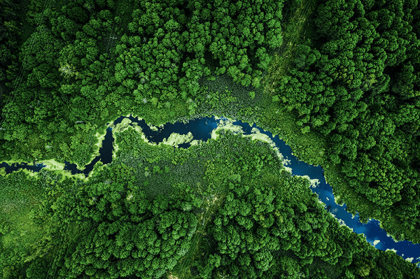
[[[232,87],[237,102],[221,111],[279,134],[304,162],[323,166],[351,213],[418,243],[417,3],[307,4],[288,22],[294,33],[283,38],[295,41],[274,56],[265,89],[248,90],[259,101],[242,101],[244,90]],[[311,11],[304,22],[300,10]],[[204,83],[229,90],[226,78]]]

